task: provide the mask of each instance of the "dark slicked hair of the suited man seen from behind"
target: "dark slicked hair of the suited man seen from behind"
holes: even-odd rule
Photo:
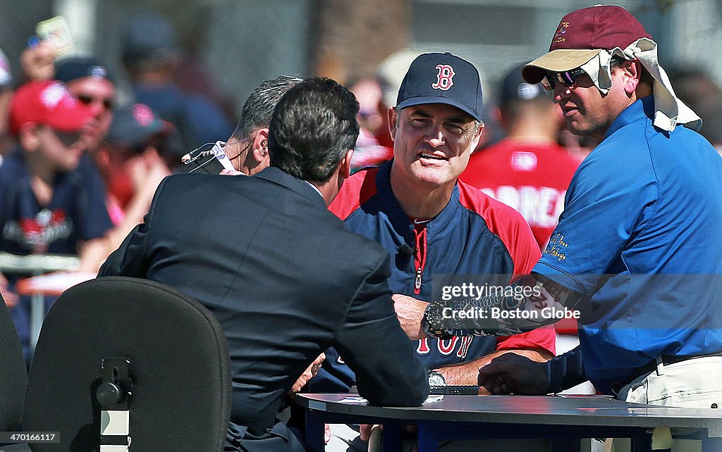
[[[271,117],[271,165],[299,179],[327,182],[359,134],[359,102],[332,79],[313,77],[291,88]]]

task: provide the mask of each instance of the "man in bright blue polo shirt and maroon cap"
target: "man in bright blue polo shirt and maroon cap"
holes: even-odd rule
[[[523,76],[553,89],[573,133],[600,142],[532,270],[549,293],[520,306],[539,311],[539,324],[552,321],[542,309],[579,300],[580,347],[549,363],[504,355],[479,370],[479,384],[529,394],[589,378],[628,402],[720,406],[722,159],[690,130],[700,119],[674,96],[656,43],[619,6],[580,9]],[[434,312],[425,319],[438,331]],[[534,327],[505,322],[507,332]]]

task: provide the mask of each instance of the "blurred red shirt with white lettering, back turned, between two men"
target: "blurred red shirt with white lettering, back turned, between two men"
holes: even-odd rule
[[[505,138],[472,154],[461,180],[521,212],[544,249],[579,164],[557,143]]]

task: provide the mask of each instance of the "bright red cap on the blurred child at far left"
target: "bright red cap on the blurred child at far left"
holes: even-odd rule
[[[75,132],[92,118],[83,105],[59,81],[30,81],[19,87],[10,104],[10,130],[17,134],[23,125],[48,125],[63,132]]]

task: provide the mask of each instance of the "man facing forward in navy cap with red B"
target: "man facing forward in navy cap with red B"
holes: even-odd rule
[[[520,213],[458,180],[482,134],[481,112],[474,65],[451,53],[418,56],[401,83],[396,107],[388,110],[393,160],[353,174],[329,206],[349,229],[391,254],[389,283],[396,297],[432,301],[433,274],[512,275],[529,272],[539,259]],[[552,357],[554,330],[499,342],[428,338],[414,342],[414,348],[431,371],[432,386],[475,385],[479,366],[497,355]],[[354,374],[339,363],[335,350],[326,356],[311,381],[313,391],[348,391]],[[339,429],[334,426],[329,450],[336,450]]]

